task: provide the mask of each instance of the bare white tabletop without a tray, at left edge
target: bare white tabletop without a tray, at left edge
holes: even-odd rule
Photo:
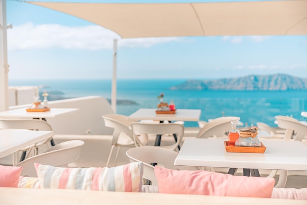
[[[46,140],[53,135],[53,131],[32,131],[22,129],[0,130],[0,159],[26,146]]]

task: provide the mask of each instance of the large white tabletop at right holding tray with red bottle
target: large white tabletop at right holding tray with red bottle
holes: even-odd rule
[[[225,139],[186,139],[175,165],[307,171],[307,146],[300,141],[263,140],[264,153],[226,152]],[[286,178],[284,179],[286,182]]]

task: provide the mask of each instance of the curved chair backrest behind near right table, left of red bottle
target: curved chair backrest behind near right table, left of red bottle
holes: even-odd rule
[[[238,118],[235,116],[219,117],[212,121],[209,121],[201,128],[196,136],[196,138],[208,138],[212,136],[222,137],[226,136],[231,129],[230,120],[233,118]]]

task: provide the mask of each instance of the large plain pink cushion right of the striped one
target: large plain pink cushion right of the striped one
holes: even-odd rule
[[[159,193],[270,198],[274,178],[233,176],[208,171],[170,170],[155,166]]]

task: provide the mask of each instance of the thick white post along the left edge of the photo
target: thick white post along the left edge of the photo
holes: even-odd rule
[[[6,0],[0,0],[0,111],[8,110]]]

